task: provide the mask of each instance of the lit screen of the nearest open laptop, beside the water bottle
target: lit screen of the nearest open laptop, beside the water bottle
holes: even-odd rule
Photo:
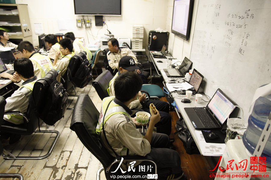
[[[211,110],[214,116],[223,124],[229,116],[232,108],[237,105],[220,89],[216,90],[213,98],[207,105],[207,109]]]

